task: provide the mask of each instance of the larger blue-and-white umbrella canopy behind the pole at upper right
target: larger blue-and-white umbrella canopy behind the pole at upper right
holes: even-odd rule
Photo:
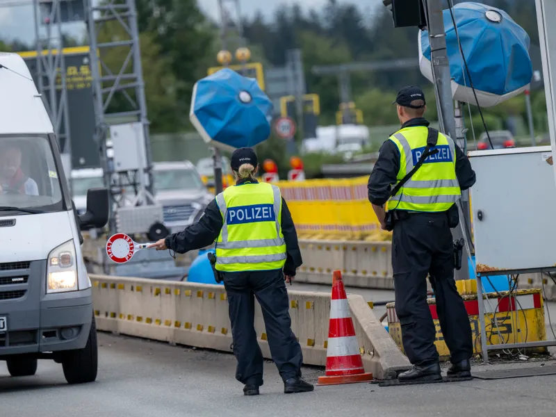
[[[482,3],[459,3],[453,8],[457,33],[480,106],[489,107],[528,88],[533,71],[530,38],[504,10]],[[443,10],[446,46],[455,100],[477,104],[461,59],[450,10]],[[419,63],[433,82],[428,31],[419,31]]]

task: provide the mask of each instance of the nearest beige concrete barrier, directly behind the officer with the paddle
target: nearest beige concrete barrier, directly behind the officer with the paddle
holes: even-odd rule
[[[90,275],[97,328],[181,345],[231,352],[227,295],[222,286]],[[288,291],[293,332],[304,363],[324,366],[330,295]],[[376,378],[395,376],[409,361],[360,295],[347,296],[363,363]],[[255,330],[270,359],[261,307],[256,303]]]

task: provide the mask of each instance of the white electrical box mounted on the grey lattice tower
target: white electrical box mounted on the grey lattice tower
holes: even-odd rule
[[[116,172],[144,170],[147,167],[145,129],[139,122],[110,126]]]

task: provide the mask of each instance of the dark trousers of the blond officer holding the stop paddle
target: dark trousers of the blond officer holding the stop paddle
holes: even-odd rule
[[[303,355],[291,330],[283,272],[224,272],[224,288],[228,295],[234,355],[238,361],[236,379],[243,384],[263,384],[263,354],[254,328],[255,297],[261,304],[270,354],[281,378],[286,381],[301,376]]]

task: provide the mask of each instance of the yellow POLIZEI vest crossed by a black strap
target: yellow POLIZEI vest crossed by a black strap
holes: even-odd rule
[[[427,146],[426,126],[412,126],[394,133],[389,140],[400,151],[398,182],[419,161]],[[455,143],[439,133],[436,147],[439,152],[428,156],[421,167],[404,184],[396,195],[389,199],[388,210],[446,211],[461,197],[456,177]]]

